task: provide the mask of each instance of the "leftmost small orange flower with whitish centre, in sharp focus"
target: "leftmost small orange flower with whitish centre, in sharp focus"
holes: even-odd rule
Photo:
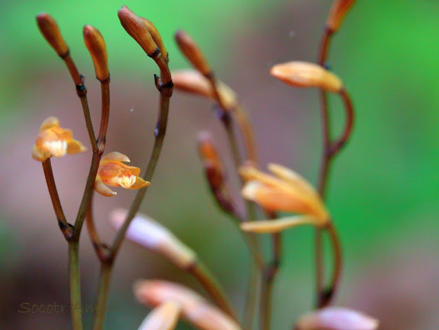
[[[32,158],[43,162],[52,156],[63,157],[66,153],[80,153],[86,150],[81,142],[72,138],[69,129],[60,127],[58,118],[49,117],[41,124],[40,133],[32,148]]]

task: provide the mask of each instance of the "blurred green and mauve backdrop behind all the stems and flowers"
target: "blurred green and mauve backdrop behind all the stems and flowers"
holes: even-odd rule
[[[275,63],[315,61],[331,1],[137,1],[126,5],[153,21],[170,53],[170,67],[188,67],[173,34],[182,28],[201,45],[217,76],[236,89],[256,131],[260,164],[278,162],[316,181],[321,134],[317,90],[292,89],[269,75]],[[36,28],[49,12],[86,76],[93,120],[100,90],[82,41],[82,25],[106,40],[111,71],[111,117],[106,150],[144,166],[153,144],[157,67],[121,27],[119,1],[1,2],[0,328],[70,329],[69,314],[20,314],[21,303],[68,303],[67,245],[61,236],[41,165],[30,158],[38,126],[49,115],[88,136],[67,70]],[[352,140],[328,182],[328,208],[344,249],[337,305],[361,309],[381,329],[439,327],[439,3],[433,0],[357,1],[330,50],[330,67],[344,80],[357,118]],[[334,130],[343,122],[331,98]],[[207,100],[175,92],[168,135],[142,210],[192,246],[242,307],[249,255],[231,221],[210,198],[196,135],[207,129],[232,170],[225,134]],[[60,197],[75,216],[91,153],[54,159]],[[232,172],[233,173],[233,172]],[[234,175],[230,176],[237,182]],[[121,190],[121,189],[120,189]],[[128,207],[133,192],[96,198],[102,235],[107,216]],[[265,242],[267,243],[267,242]],[[269,246],[267,245],[267,248]],[[93,303],[98,263],[84,232],[82,291]],[[284,234],[274,288],[273,329],[291,329],[313,298],[313,232]],[[106,329],[137,329],[147,309],[135,303],[137,278],[166,278],[200,289],[187,274],[130,243],[117,260]],[[200,290],[201,291],[201,290]],[[91,315],[86,315],[89,323]],[[189,329],[181,322],[179,329]]]

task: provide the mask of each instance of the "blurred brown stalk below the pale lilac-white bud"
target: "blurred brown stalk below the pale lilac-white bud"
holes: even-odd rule
[[[220,307],[227,315],[229,315],[234,320],[236,318],[236,312],[234,311],[232,304],[230,304],[227,296],[221,289],[221,285],[216,281],[214,276],[210,271],[203,265],[201,261],[196,261],[196,263],[191,267],[188,272],[192,274],[197,281],[203,286],[206,292],[212,297],[216,305]]]

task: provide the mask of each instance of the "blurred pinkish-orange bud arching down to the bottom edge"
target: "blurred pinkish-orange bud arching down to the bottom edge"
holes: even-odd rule
[[[172,301],[181,306],[182,316],[202,330],[240,330],[232,318],[210,305],[192,290],[166,281],[137,281],[134,294],[139,303],[148,306]]]

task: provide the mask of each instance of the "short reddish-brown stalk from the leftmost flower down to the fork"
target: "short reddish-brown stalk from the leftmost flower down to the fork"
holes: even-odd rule
[[[47,158],[43,161],[43,171],[46,179],[47,190],[49,190],[50,199],[52,200],[52,206],[54,207],[56,219],[58,220],[58,225],[65,239],[68,240],[70,239],[73,231],[71,229],[71,225],[65,219],[63,207],[61,206],[60,202],[60,197],[58,196],[58,190],[56,190],[54,173],[52,171],[52,163],[50,162],[50,158]]]

